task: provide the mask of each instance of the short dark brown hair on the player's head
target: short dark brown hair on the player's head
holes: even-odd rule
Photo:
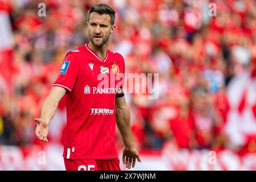
[[[93,13],[93,12],[96,12],[100,15],[102,14],[108,14],[110,15],[110,23],[112,25],[114,25],[115,23],[115,11],[108,5],[105,5],[105,4],[98,4],[98,5],[94,5],[92,7],[90,7],[90,10],[88,11],[88,15],[87,15],[87,20],[89,22],[89,18],[90,18],[90,14]]]

